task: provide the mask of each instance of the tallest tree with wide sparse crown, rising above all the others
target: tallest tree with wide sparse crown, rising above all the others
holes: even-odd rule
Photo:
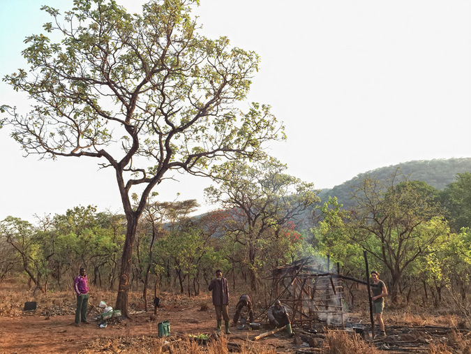
[[[3,78],[36,102],[25,115],[1,107],[27,154],[87,156],[114,169],[127,219],[116,308],[126,316],[137,221],[152,189],[172,170],[209,175],[211,164],[257,159],[264,142],[284,138],[268,106],[237,108],[259,57],[197,34],[196,3],[152,0],[134,15],[113,0],[75,0],[63,16],[43,6],[54,20],[25,40],[29,69]]]

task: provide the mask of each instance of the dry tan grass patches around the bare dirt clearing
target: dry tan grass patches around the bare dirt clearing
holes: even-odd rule
[[[75,313],[75,295],[73,290],[54,290],[47,293],[36,292],[32,290],[24,290],[27,288],[24,281],[22,283],[13,281],[3,282],[1,287],[2,302],[0,303],[0,316],[24,316],[24,302],[36,301],[38,309],[36,315],[73,315]],[[202,311],[212,309],[211,294],[203,292],[197,297],[188,297],[186,294],[179,293],[159,293],[159,297],[163,300],[167,309],[189,309],[197,307]],[[114,306],[116,301],[116,291],[99,290],[91,287],[90,302],[98,306],[100,301],[104,301],[110,306]],[[128,294],[129,309],[144,309],[141,291],[130,291]],[[152,307],[151,299],[149,306]],[[359,311],[350,313],[355,320],[362,320],[363,323],[369,322],[369,313],[367,307],[359,307]],[[465,320],[459,316],[456,311],[442,307],[434,309],[432,307],[425,308],[420,306],[403,306],[403,307],[387,307],[384,311],[384,321],[386,325],[405,325],[414,326],[442,326],[454,327],[456,329],[463,328]],[[151,324],[149,324],[150,326]],[[207,345],[198,344],[190,337],[182,337],[178,341],[170,341],[167,343],[165,339],[158,339],[152,336],[133,337],[132,326],[126,326],[122,337],[102,337],[94,341],[87,350],[81,353],[167,353],[168,349],[172,353],[228,353],[227,337],[220,337],[218,340],[209,341]],[[155,328],[149,328],[149,333],[154,332]],[[405,334],[401,334],[405,340]],[[260,342],[246,341],[240,343],[239,353],[244,354],[268,354],[276,353],[276,349],[263,346]],[[426,344],[424,344],[425,348]],[[463,334],[456,332],[447,334],[447,338],[438,338],[434,344],[428,346],[428,353],[463,353],[471,354],[471,334]],[[374,346],[364,342],[359,336],[347,334],[342,331],[329,331],[326,339],[322,344],[322,353],[343,354],[343,353],[380,353]]]

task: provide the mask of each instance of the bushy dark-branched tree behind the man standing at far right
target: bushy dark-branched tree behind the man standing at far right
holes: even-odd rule
[[[387,180],[364,177],[352,198],[357,206],[346,219],[348,235],[387,267],[396,302],[404,270],[448,233],[438,191],[396,170]]]

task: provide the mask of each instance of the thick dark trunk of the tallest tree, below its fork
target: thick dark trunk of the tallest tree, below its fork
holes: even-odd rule
[[[126,239],[124,240],[123,256],[121,258],[121,275],[119,276],[119,290],[115,309],[121,310],[121,314],[129,318],[128,313],[128,287],[129,275],[131,272],[131,261],[133,256],[133,244],[136,235],[137,220],[135,214],[128,216],[128,226],[126,228]]]

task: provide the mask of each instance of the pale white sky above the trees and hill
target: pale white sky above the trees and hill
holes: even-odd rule
[[[0,76],[24,67],[24,37],[71,0],[0,0]],[[117,0],[131,12],[142,0]],[[470,1],[201,0],[202,34],[228,36],[262,58],[248,101],[268,103],[287,142],[271,154],[316,188],[412,160],[471,156]],[[0,82],[0,103],[29,111]],[[33,221],[77,205],[119,211],[112,170],[89,158],[38,161],[0,130],[0,220]],[[158,186],[162,200],[196,198],[209,182]]]

